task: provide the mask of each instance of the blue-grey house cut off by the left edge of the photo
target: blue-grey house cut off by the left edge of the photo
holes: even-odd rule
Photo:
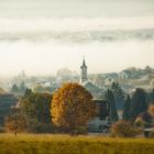
[[[12,94],[0,94],[0,125],[3,125],[4,118],[12,107],[18,103],[16,97]]]

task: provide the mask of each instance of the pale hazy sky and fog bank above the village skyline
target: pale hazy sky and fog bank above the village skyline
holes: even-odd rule
[[[154,67],[153,0],[0,0],[0,76]]]

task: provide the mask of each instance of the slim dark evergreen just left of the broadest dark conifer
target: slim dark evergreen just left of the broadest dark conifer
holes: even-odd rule
[[[123,106],[123,114],[122,118],[124,120],[130,120],[130,107],[131,107],[131,97],[128,95],[127,100]]]

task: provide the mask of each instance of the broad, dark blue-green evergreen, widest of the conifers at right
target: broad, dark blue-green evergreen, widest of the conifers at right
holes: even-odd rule
[[[143,89],[138,88],[132,96],[132,101],[130,107],[131,120],[134,121],[140,113],[146,110],[147,110],[146,92]]]

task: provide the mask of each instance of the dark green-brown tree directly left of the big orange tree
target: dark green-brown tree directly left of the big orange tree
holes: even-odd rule
[[[22,113],[26,118],[30,132],[38,130],[41,132],[46,132],[47,125],[48,129],[51,128],[51,94],[33,94],[31,90],[26,90],[24,97],[20,100],[20,107]]]

